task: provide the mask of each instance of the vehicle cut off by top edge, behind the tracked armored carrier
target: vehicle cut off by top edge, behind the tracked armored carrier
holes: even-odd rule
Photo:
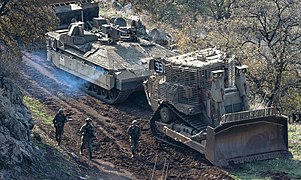
[[[93,0],[48,0],[60,20],[57,29],[67,28],[72,21],[92,21],[99,16],[98,2]]]

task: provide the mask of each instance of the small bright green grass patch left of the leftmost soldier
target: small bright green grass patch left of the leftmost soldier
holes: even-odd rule
[[[29,96],[24,96],[23,101],[31,111],[33,119],[45,125],[52,125],[53,117],[47,114],[46,108],[40,101]]]

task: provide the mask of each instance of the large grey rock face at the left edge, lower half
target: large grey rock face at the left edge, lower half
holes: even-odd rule
[[[33,126],[21,90],[12,80],[0,76],[0,179],[19,179],[16,174],[21,167],[35,161],[30,141]]]

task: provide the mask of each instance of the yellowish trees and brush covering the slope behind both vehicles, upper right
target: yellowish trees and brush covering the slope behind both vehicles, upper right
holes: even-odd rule
[[[249,65],[252,98],[286,114],[301,110],[300,1],[120,2],[171,28],[180,52],[217,47]]]

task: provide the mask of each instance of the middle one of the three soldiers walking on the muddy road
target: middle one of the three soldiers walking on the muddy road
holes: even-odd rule
[[[86,118],[86,123],[80,128],[80,132],[82,133],[82,143],[80,146],[80,154],[83,155],[83,149],[88,146],[89,150],[89,158],[92,159],[92,143],[94,135],[94,128],[91,124],[92,119]]]

